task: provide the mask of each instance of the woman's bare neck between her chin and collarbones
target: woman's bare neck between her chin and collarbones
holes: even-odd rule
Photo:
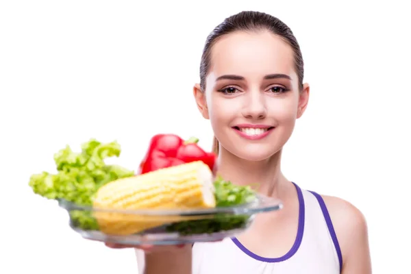
[[[238,158],[221,147],[219,151],[219,171],[223,179],[233,184],[251,185],[258,192],[278,197],[278,186],[286,182],[281,172],[281,154],[278,151],[271,158],[261,161],[247,161]]]

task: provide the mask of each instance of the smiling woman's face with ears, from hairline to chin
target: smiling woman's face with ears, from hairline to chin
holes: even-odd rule
[[[265,160],[282,149],[308,103],[298,88],[294,53],[271,32],[235,32],[212,47],[206,90],[195,86],[204,118],[221,149]]]

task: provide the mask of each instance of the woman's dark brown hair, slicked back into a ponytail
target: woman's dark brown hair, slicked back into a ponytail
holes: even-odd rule
[[[216,26],[214,30],[208,35],[206,45],[203,49],[203,55],[201,56],[200,64],[200,86],[201,90],[206,90],[206,76],[210,69],[210,59],[212,46],[226,34],[232,32],[245,31],[256,32],[262,30],[269,30],[273,34],[281,37],[285,42],[290,45],[292,51],[294,51],[295,70],[299,78],[299,90],[303,89],[303,76],[304,76],[304,63],[303,56],[297,39],[292,34],[291,29],[278,18],[266,14],[264,12],[245,11],[238,14],[234,14],[225,18],[223,23]],[[219,141],[214,137],[213,142],[214,153],[219,153]]]

